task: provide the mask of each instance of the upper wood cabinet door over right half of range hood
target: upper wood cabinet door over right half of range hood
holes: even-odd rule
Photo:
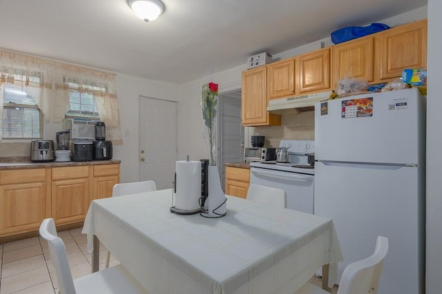
[[[330,48],[296,56],[299,62],[299,93],[332,90]]]

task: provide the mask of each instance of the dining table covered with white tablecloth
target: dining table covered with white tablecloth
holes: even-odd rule
[[[93,200],[82,231],[93,270],[102,242],[151,294],[293,294],[323,265],[336,282],[329,218],[233,196],[222,218],[182,216],[171,202],[171,189]]]

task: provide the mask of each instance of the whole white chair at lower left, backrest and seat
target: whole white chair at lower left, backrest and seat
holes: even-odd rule
[[[55,267],[55,274],[63,294],[146,294],[143,286],[128,273],[121,264],[111,269],[97,271],[84,277],[73,280],[70,272],[66,246],[61,238],[57,237],[55,222],[52,218],[46,218],[40,225],[40,235],[48,241],[50,258]]]

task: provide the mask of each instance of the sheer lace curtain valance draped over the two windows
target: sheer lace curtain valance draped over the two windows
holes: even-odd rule
[[[113,74],[3,50],[0,50],[0,74],[0,90],[5,84],[40,90],[38,105],[47,123],[60,123],[64,119],[69,110],[69,92],[93,94],[99,119],[106,123],[106,138],[114,145],[122,145]]]

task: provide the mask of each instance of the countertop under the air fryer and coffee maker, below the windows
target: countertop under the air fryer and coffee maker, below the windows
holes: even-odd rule
[[[0,170],[4,169],[32,169],[42,167],[75,167],[79,165],[113,165],[121,160],[93,160],[93,161],[48,161],[32,162],[29,157],[0,157]]]

